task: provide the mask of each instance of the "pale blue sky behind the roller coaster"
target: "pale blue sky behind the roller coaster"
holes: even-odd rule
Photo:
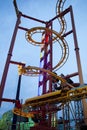
[[[17,0],[19,10],[28,16],[49,21],[56,16],[57,0]],[[80,49],[80,58],[83,72],[84,83],[87,83],[87,60],[86,60],[86,31],[87,31],[87,0],[66,0],[64,9],[70,5],[73,7],[74,20],[76,26],[78,46]],[[2,78],[8,50],[13,35],[17,17],[13,6],[13,0],[0,0],[0,80]],[[66,15],[67,30],[71,28],[70,16]],[[57,25],[58,24],[58,25]],[[44,26],[32,20],[21,19],[21,26],[32,28],[36,26]],[[54,22],[53,29],[58,32],[58,20]],[[19,30],[17,33],[15,46],[11,60],[26,63],[26,65],[33,65],[39,67],[40,47],[33,46],[27,42],[25,38],[25,31]],[[38,37],[38,35],[37,35]],[[36,38],[38,40],[38,38]],[[57,71],[58,74],[65,75],[77,72],[77,63],[73,45],[73,37],[70,35],[66,37],[69,45],[69,58],[65,65]],[[54,45],[53,48],[53,65],[57,64],[59,58],[59,46]],[[74,79],[78,82],[77,78]],[[6,79],[5,90],[3,97],[15,99],[18,83],[18,68],[16,65],[10,65],[8,76]],[[37,96],[38,94],[38,77],[22,76],[20,100],[23,102],[29,98]],[[2,103],[0,108],[0,116],[7,110],[12,109],[14,104]]]

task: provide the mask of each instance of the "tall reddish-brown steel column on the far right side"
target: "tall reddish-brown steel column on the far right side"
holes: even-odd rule
[[[76,60],[77,60],[77,68],[78,68],[78,73],[79,73],[78,74],[79,82],[80,82],[80,84],[84,84],[72,6],[70,6],[70,16],[71,16],[71,23],[72,23],[72,30],[73,30],[73,38],[74,38],[75,54],[76,54]],[[82,105],[83,105],[84,122],[87,125],[87,103],[86,103],[86,99],[82,99]]]

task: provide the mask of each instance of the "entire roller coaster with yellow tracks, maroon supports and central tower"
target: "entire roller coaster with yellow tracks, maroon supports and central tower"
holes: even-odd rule
[[[15,25],[14,33],[12,36],[5,69],[3,72],[1,85],[0,85],[0,100],[16,103],[13,113],[15,115],[23,116],[26,118],[31,117],[37,125],[31,127],[31,130],[62,130],[80,129],[81,125],[87,125],[87,86],[84,85],[82,69],[80,63],[79,47],[77,42],[74,16],[72,6],[63,10],[66,0],[58,0],[56,4],[56,16],[48,22],[27,16],[18,10],[16,0],[14,6],[17,14],[17,22]],[[72,29],[67,32],[65,15],[70,14]],[[32,20],[42,23],[45,27],[24,28],[20,26],[21,18]],[[58,19],[60,23],[60,32],[53,30],[53,23]],[[32,45],[40,46],[40,67],[26,66],[24,63],[12,61],[12,52],[15,44],[15,39],[18,29],[26,31],[26,39]],[[33,35],[41,33],[41,42],[35,41]],[[73,34],[75,54],[77,60],[77,72],[64,76],[58,76],[56,70],[61,68],[68,59],[69,47],[65,37]],[[62,56],[57,65],[53,66],[52,48],[55,42],[61,46]],[[19,65],[19,77],[21,75],[38,76],[38,96],[26,99],[24,104],[19,101],[19,94],[16,100],[3,98],[3,91],[5,86],[8,68],[10,64]],[[78,76],[79,84],[73,83],[70,78]],[[53,89],[54,88],[54,89]],[[41,91],[40,91],[41,90]],[[18,92],[19,93],[19,92]],[[60,114],[62,121],[57,119]],[[72,123],[73,122],[73,123]],[[13,124],[16,122],[13,122]],[[16,130],[13,126],[12,130]]]

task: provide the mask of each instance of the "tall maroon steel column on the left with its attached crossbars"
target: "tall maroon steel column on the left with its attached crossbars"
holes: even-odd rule
[[[33,18],[33,17],[29,17],[27,15],[24,15],[19,11],[18,16],[17,16],[17,21],[16,21],[16,24],[15,24],[15,28],[14,28],[14,32],[13,32],[13,35],[12,35],[12,39],[11,39],[11,43],[10,43],[10,47],[9,47],[9,51],[8,51],[8,55],[7,55],[3,75],[2,75],[2,79],[1,79],[0,99],[2,99],[2,97],[3,97],[3,92],[4,92],[4,88],[5,88],[5,83],[6,83],[10,63],[17,64],[17,65],[25,65],[25,64],[22,64],[22,63],[17,62],[17,61],[11,61],[12,53],[13,53],[13,49],[14,49],[14,45],[15,45],[15,39],[16,39],[16,36],[17,36],[18,29],[22,29],[24,31],[28,30],[28,29],[25,29],[25,28],[19,26],[20,23],[21,23],[21,17],[31,19],[31,20],[35,20],[36,22],[40,22],[40,23],[43,23],[43,24],[46,23],[46,22],[44,22],[42,20],[39,20],[39,19],[36,19],[36,18]],[[1,102],[2,101],[0,101],[0,105],[1,105]]]

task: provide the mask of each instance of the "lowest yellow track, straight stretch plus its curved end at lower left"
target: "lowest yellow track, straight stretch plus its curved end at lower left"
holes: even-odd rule
[[[65,104],[68,101],[78,101],[80,99],[84,99],[87,97],[87,86],[81,86],[78,88],[74,88],[72,90],[65,92],[56,91],[51,92],[48,94],[44,94],[41,96],[29,98],[25,101],[25,103],[22,105],[21,109],[14,108],[13,112],[17,115],[21,115],[24,117],[33,117],[34,114],[37,114],[37,112],[29,112],[26,110],[29,109],[29,107],[39,108],[40,106],[44,105],[53,105],[53,104]],[[62,109],[62,107],[60,107]]]

